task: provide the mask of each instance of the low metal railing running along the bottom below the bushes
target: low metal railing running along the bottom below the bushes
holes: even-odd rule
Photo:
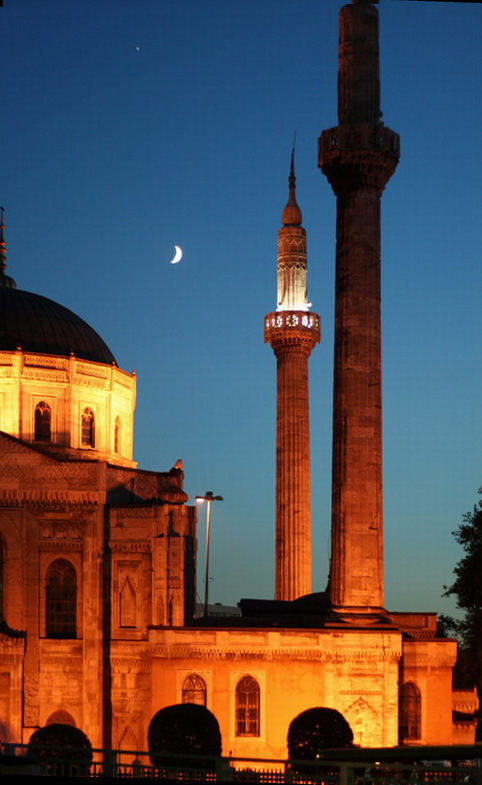
[[[253,782],[293,783],[293,785],[482,785],[482,745],[464,752],[451,752],[452,757],[435,759],[428,748],[404,749],[396,760],[395,749],[388,757],[376,760],[370,750],[350,750],[360,760],[327,759],[315,761],[283,761],[260,758],[210,758],[195,755],[163,756],[155,754],[153,765],[148,752],[138,750],[92,750],[92,760],[86,760],[86,750],[65,748],[28,748],[25,744],[4,744],[0,752],[0,776],[47,775],[54,777],[115,777],[127,779],[161,779],[179,782]],[[461,748],[452,748],[459,750]],[[360,755],[357,756],[356,753]],[[380,751],[374,751],[375,754]],[[344,751],[339,750],[339,758]],[[426,755],[422,758],[421,755]],[[465,758],[462,757],[465,754]],[[480,756],[480,757],[477,757]],[[378,757],[387,757],[380,756]],[[432,758],[432,760],[430,760]]]

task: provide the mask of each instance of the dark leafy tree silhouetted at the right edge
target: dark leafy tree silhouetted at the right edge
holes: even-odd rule
[[[479,489],[482,494],[482,488]],[[455,580],[444,586],[445,597],[454,595],[457,607],[464,611],[462,619],[442,617],[442,627],[452,631],[461,644],[461,661],[465,672],[472,675],[477,684],[479,702],[482,701],[482,499],[472,512],[463,516],[459,527],[452,532],[462,546],[464,556],[454,568]],[[476,739],[482,741],[480,721]]]

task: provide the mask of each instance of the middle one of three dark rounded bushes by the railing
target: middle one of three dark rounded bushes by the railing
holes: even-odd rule
[[[214,768],[212,760],[199,757],[183,761],[176,754],[221,755],[218,721],[208,709],[195,703],[180,703],[158,711],[149,725],[147,739],[151,762],[158,768],[186,766],[210,769]]]

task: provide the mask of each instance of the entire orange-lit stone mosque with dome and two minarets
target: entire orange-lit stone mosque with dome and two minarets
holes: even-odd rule
[[[452,689],[456,643],[433,613],[383,598],[380,199],[399,156],[380,121],[378,16],[340,12],[338,125],[319,166],[337,198],[332,554],[310,583],[307,294],[295,171],[278,233],[276,588],[241,615],[195,618],[196,511],[182,462],[133,460],[136,377],[102,338],[16,288],[0,237],[0,738],[52,722],[94,747],[146,749],[156,713],[202,704],[223,754],[285,758],[290,723],[329,707],[356,744],[473,741],[475,694]],[[455,719],[454,719],[455,718]]]

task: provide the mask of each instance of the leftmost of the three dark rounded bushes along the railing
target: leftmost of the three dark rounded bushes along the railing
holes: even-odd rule
[[[87,776],[92,763],[92,745],[79,728],[52,723],[34,731],[28,752],[52,774],[61,774],[61,762],[77,765],[77,773]]]

